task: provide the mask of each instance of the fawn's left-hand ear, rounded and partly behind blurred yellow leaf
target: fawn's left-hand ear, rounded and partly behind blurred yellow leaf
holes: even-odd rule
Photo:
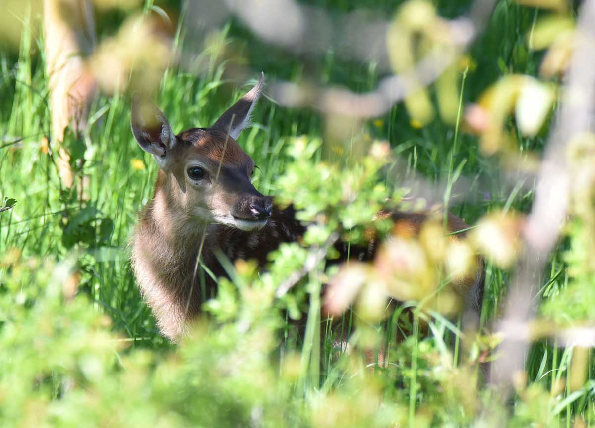
[[[165,115],[152,102],[138,95],[132,97],[130,127],[141,149],[151,153],[159,168],[168,161],[168,152],[176,143],[176,137]]]

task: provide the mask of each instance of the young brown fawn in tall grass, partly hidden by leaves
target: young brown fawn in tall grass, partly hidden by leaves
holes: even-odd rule
[[[231,261],[256,259],[262,266],[270,251],[305,232],[292,206],[276,207],[254,188],[255,164],[236,142],[250,123],[263,77],[211,128],[190,128],[177,136],[156,106],[133,100],[134,137],[153,155],[159,173],[154,196],[134,231],[131,261],[143,298],[171,341],[183,336],[187,321],[216,291],[209,276],[199,279],[199,260],[216,277],[226,275],[218,251]],[[426,218],[424,213],[391,214],[415,231]],[[466,227],[450,216],[452,231]],[[369,259],[373,253],[374,248],[365,248],[360,258]],[[471,296],[467,301],[477,310],[483,269],[465,281],[465,289]]]

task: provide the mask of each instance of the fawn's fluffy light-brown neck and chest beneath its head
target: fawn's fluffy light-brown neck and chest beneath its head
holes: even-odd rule
[[[161,172],[160,172],[161,175]],[[134,231],[131,254],[137,284],[153,309],[159,328],[170,339],[180,336],[188,317],[200,310],[214,284],[200,284],[200,259],[211,265],[217,225],[189,218],[171,197],[167,184],[159,182],[155,194]]]

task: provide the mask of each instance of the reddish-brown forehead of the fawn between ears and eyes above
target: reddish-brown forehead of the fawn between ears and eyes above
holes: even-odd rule
[[[193,128],[177,137],[183,141],[180,145],[184,147],[183,156],[186,159],[206,158],[215,165],[248,171],[254,168],[252,158],[226,133],[208,128]]]

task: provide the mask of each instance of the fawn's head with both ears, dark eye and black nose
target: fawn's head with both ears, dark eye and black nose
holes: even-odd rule
[[[236,141],[250,124],[263,78],[261,73],[258,84],[211,128],[190,128],[177,136],[154,104],[133,98],[132,132],[160,170],[155,196],[162,191],[177,217],[247,231],[267,223],[273,203],[252,185],[254,161]]]

